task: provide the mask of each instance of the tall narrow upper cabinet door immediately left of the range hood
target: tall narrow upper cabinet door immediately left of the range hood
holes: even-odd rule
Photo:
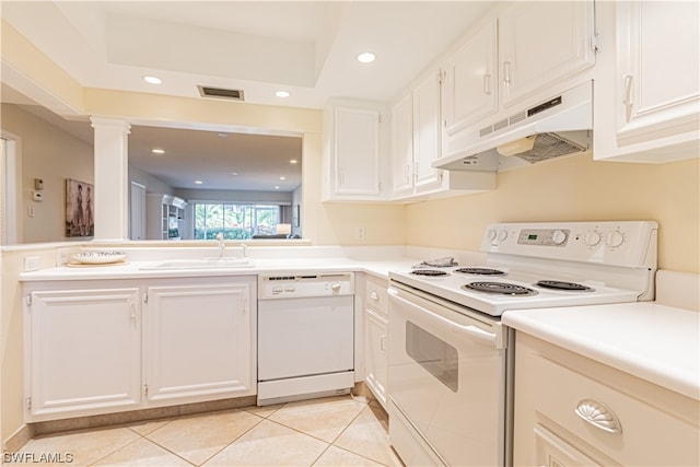
[[[440,138],[440,77],[430,74],[413,89],[413,185],[416,192],[438,188],[442,171],[432,163],[442,154]]]

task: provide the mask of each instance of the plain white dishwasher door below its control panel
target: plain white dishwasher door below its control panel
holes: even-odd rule
[[[353,370],[352,295],[258,302],[258,399],[352,387]]]

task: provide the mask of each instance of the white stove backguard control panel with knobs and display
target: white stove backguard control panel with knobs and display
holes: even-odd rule
[[[480,250],[655,268],[657,232],[658,224],[653,221],[491,224]]]

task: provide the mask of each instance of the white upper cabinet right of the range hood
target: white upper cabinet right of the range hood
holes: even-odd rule
[[[603,2],[615,31],[595,90],[594,157],[661,163],[700,154],[700,4]]]

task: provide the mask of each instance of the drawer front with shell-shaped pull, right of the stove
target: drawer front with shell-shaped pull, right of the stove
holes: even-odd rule
[[[516,386],[516,395],[525,389],[541,423],[550,420],[550,429],[559,425],[622,465],[700,465],[697,424],[632,397],[633,387],[625,394],[540,354],[527,357],[526,378],[537,383]]]

